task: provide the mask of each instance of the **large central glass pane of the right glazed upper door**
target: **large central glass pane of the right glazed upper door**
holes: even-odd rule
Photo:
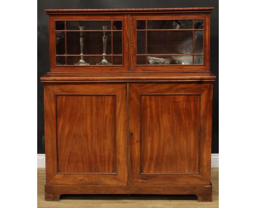
[[[138,40],[137,40],[138,41]],[[192,53],[193,32],[186,31],[148,31],[148,53]]]

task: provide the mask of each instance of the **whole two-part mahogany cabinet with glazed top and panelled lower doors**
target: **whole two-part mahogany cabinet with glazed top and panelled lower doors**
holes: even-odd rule
[[[45,200],[212,200],[213,8],[54,9],[44,83]]]

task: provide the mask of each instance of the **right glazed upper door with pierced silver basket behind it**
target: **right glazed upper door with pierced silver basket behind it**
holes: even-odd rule
[[[132,71],[210,70],[208,15],[132,15]]]

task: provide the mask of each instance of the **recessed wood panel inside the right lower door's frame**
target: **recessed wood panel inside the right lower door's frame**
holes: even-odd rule
[[[199,173],[199,95],[141,96],[141,173]]]

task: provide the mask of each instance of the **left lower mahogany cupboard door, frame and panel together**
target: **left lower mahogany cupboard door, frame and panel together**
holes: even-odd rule
[[[46,183],[127,184],[127,85],[45,84]]]

